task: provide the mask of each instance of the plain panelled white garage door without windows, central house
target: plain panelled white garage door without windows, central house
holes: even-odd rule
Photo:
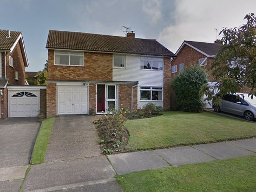
[[[58,86],[58,115],[88,114],[87,86]]]

